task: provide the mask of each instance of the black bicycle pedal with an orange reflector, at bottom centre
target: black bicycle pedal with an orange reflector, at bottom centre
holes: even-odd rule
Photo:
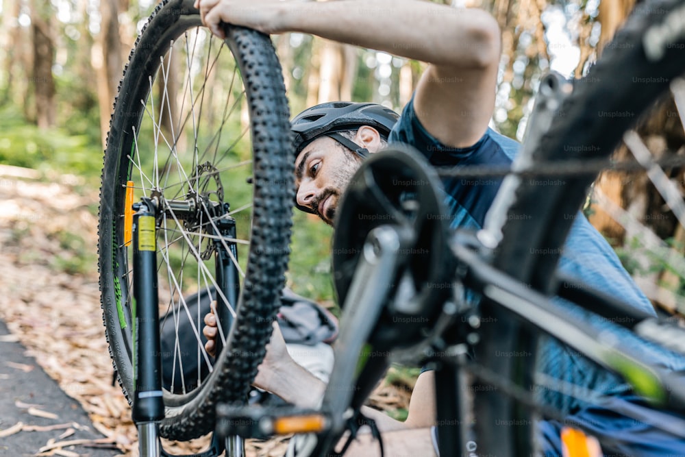
[[[221,436],[266,439],[273,435],[321,433],[329,429],[321,411],[294,406],[216,406],[216,433]]]

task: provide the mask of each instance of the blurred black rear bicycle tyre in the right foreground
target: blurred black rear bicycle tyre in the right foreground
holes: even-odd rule
[[[612,153],[638,116],[685,71],[684,37],[659,32],[669,21],[680,21],[683,4],[682,0],[653,1],[638,8],[606,46],[599,62],[574,84],[560,108],[564,116],[556,116],[541,138],[530,170],[534,171],[536,163],[588,160]],[[651,84],[640,84],[636,90],[636,81]],[[501,218],[502,237],[493,264],[543,293],[553,293],[553,273],[562,245],[595,177],[590,172],[553,183],[545,178],[521,179],[513,189],[512,205],[499,208],[507,216]],[[487,325],[482,325],[476,347],[478,363],[531,393],[536,388],[534,369],[540,355],[536,334],[495,306],[484,304],[482,316]],[[506,456],[534,455],[539,450],[533,440],[536,415],[530,408],[492,388],[476,386],[473,391],[477,452]]]

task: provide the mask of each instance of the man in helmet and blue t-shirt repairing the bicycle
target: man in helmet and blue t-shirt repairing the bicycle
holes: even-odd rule
[[[219,24],[225,22],[268,34],[316,34],[429,63],[397,123],[392,112],[364,103],[328,103],[310,108],[293,120],[297,137],[297,206],[318,214],[326,223],[334,222],[340,195],[363,157],[382,149],[386,142],[408,143],[424,153],[432,164],[454,166],[509,164],[518,149],[516,142],[488,129],[495,103],[500,36],[497,23],[486,12],[415,0],[197,0],[196,6],[204,23],[218,36],[223,35]],[[447,204],[453,227],[482,227],[499,182],[446,179],[443,184],[449,195]],[[571,231],[561,268],[653,313],[651,304],[634,286],[612,249],[585,219],[576,221]],[[206,335],[212,338],[214,318],[208,315],[206,323]],[[208,349],[213,349],[212,344],[208,343]],[[562,370],[568,382],[605,395],[630,393],[613,375],[601,372],[582,356],[558,344],[550,343],[545,354],[543,365],[547,366],[543,370],[557,376]],[[655,360],[665,367],[683,367],[682,360],[654,354]],[[318,406],[325,390],[323,382],[287,356],[277,329],[255,384],[303,407]],[[579,420],[593,420],[582,399],[549,393],[546,400]],[[435,418],[432,372],[425,371],[419,376],[404,423],[368,408],[364,413],[376,419],[384,432],[387,455],[429,455],[433,449],[429,428]],[[561,453],[561,428],[558,423],[543,426],[543,441],[546,449],[551,449],[550,455]],[[640,430],[634,427],[625,435],[630,439],[631,434],[637,435]],[[358,449],[349,455],[375,455],[376,448],[368,441],[362,439]],[[671,439],[662,447],[659,443],[649,447],[638,442],[630,449],[636,449],[632,454],[639,451],[642,455],[656,455],[678,447]]]

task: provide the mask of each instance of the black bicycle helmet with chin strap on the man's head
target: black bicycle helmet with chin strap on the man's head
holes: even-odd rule
[[[329,101],[308,108],[297,114],[290,121],[290,129],[295,134],[295,157],[309,143],[320,136],[329,136],[341,145],[354,151],[361,158],[369,155],[366,148],[338,134],[345,130],[358,129],[362,125],[370,125],[378,130],[384,139],[388,139],[390,130],[397,123],[399,114],[377,103],[353,103],[351,101]],[[299,210],[316,214],[306,206],[300,206],[295,197],[295,206]]]

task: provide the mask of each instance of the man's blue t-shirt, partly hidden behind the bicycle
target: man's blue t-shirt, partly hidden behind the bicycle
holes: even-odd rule
[[[390,132],[388,143],[412,145],[423,153],[431,164],[436,166],[508,165],[519,150],[519,143],[490,128],[471,147],[447,147],[429,134],[421,125],[414,112],[413,98],[404,108],[393,131]],[[493,177],[469,180],[462,177],[443,177],[442,182],[447,194],[445,204],[449,208],[451,228],[481,228],[484,224],[485,215],[493,203],[493,199],[495,199],[501,179]],[[580,212],[571,227],[569,237],[566,239],[558,269],[575,277],[579,282],[594,286],[610,295],[621,297],[627,304],[656,315],[651,303],[625,271],[613,249]],[[685,358],[643,341],[628,330],[610,325],[606,319],[597,317],[569,301],[558,297],[554,300],[564,308],[572,310],[578,317],[586,319],[591,325],[596,325],[599,329],[609,328],[621,338],[624,347],[646,354],[649,360],[652,360],[656,365],[673,370],[685,370]],[[594,412],[601,400],[591,400],[588,395],[597,395],[597,397],[611,395],[614,397],[615,401],[612,400],[614,404],[616,401],[620,401],[616,397],[627,399],[626,401],[630,400],[631,404],[634,403],[635,397],[632,397],[630,386],[621,378],[597,367],[582,354],[552,338],[541,338],[540,345],[538,371],[566,382],[567,386],[582,388],[577,392],[570,393],[539,388],[537,395],[540,395],[540,399],[546,404],[558,408],[566,415],[582,415],[582,421],[588,421],[590,419],[587,417],[587,408],[593,411],[590,416],[601,417],[601,413],[597,415]],[[588,401],[585,402],[584,399]],[[599,410],[601,411],[601,408]],[[608,430],[613,434],[616,434],[619,428],[625,430],[625,424],[619,425],[619,422],[615,421],[616,427],[612,428],[612,421],[607,421],[606,417],[601,420],[598,419],[598,421],[609,423]],[[632,423],[634,422],[632,421]],[[645,430],[651,429],[644,424],[642,425]],[[645,438],[645,434],[636,432],[635,428],[636,425],[633,425],[630,436],[626,436],[626,438],[632,439],[632,441],[636,439],[636,436]],[[550,437],[556,433],[550,432],[549,423],[545,423],[542,429],[547,440],[551,440]],[[558,440],[558,434],[556,436]],[[661,439],[661,435],[657,438],[650,435],[649,438],[645,439],[652,443],[655,439],[657,441],[664,440]],[[673,441],[672,438],[671,441]],[[554,447],[557,447],[556,445],[558,443],[555,443]],[[630,451],[630,454],[639,449],[640,455],[651,455],[651,451],[647,452],[645,449],[657,448],[649,446],[647,448],[630,447],[626,450]],[[654,451],[653,455],[673,452],[674,449],[677,449],[679,454],[684,454],[685,443],[667,444],[665,447]]]

